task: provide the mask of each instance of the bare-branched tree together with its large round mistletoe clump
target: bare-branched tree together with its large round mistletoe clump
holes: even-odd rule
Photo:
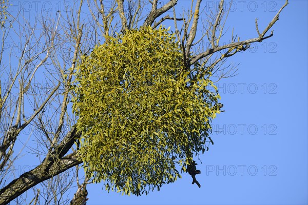
[[[256,19],[256,37],[232,32],[228,44],[229,3],[178,3],[64,2],[27,18],[1,1],[0,204],[85,204],[91,182],[147,194],[181,172],[201,186],[194,157],[214,143],[210,122],[222,107],[213,77],[232,76],[217,72],[228,57],[273,36],[288,2],[264,29]],[[23,149],[39,165],[12,178]]]

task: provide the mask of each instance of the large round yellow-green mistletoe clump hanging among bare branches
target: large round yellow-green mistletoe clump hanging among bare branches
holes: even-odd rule
[[[80,158],[94,182],[147,194],[181,177],[177,163],[185,171],[192,154],[207,149],[220,97],[212,81],[191,75],[175,36],[162,27],[127,30],[83,56],[73,111]]]

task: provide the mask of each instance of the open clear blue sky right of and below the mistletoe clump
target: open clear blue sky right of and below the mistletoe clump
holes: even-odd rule
[[[214,4],[204,1],[205,11]],[[244,40],[257,37],[255,18],[262,30],[284,1],[233,4],[225,28]],[[87,204],[307,204],[307,7],[290,1],[273,37],[229,58],[240,65],[217,83],[225,112],[213,121],[221,131],[213,133],[214,146],[197,161],[200,189],[186,173],[139,197],[88,185]]]

